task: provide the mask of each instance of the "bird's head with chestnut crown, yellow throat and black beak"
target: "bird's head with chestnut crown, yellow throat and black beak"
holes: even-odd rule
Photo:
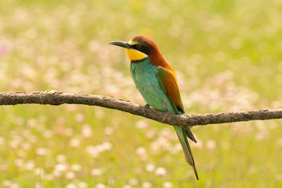
[[[133,37],[129,42],[116,41],[109,42],[109,44],[125,48],[130,61],[141,61],[153,54],[159,53],[157,44],[150,37],[145,36]]]

